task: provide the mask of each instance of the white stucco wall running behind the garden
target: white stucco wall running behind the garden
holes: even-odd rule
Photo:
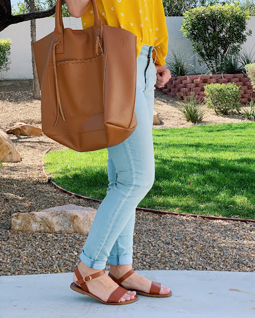
[[[181,53],[186,52],[190,57],[194,55],[190,41],[180,31],[182,19],[182,16],[166,17],[169,35],[167,56],[171,54],[171,49],[175,51],[180,49]],[[63,17],[63,23],[64,27],[82,29],[81,18]],[[54,31],[54,27],[54,17],[36,19],[36,40]],[[248,37],[248,41],[244,45],[249,51],[255,43],[255,16],[248,20],[248,28],[253,30],[252,36]],[[30,21],[9,25],[0,32],[0,38],[6,39],[7,37],[12,41],[10,70],[1,72],[0,79],[32,79]],[[191,63],[197,69],[200,68],[196,57],[193,58]]]

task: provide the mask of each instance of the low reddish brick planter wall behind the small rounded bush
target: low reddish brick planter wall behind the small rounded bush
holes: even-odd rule
[[[171,97],[179,96],[183,99],[183,94],[190,95],[191,88],[194,93],[198,93],[197,99],[203,100],[205,96],[204,85],[209,83],[228,83],[236,82],[241,86],[241,103],[245,104],[255,97],[251,81],[245,74],[206,74],[206,75],[187,75],[187,76],[172,76],[171,79],[162,87],[157,88]]]

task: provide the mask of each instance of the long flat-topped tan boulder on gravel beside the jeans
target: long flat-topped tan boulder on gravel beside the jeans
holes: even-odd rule
[[[75,204],[66,204],[39,212],[13,213],[11,230],[46,233],[88,234],[97,210]]]

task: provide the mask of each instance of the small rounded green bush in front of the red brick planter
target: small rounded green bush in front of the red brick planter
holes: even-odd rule
[[[239,112],[241,86],[232,83],[210,83],[205,86],[205,102],[209,108],[213,108],[216,114],[227,115]]]

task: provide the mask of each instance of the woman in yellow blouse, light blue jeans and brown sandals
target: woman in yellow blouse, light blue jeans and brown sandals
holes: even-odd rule
[[[70,14],[81,17],[83,28],[94,24],[90,0],[66,0],[66,3]],[[168,33],[162,0],[96,0],[96,3],[103,24],[123,27],[137,37],[134,106],[137,126],[124,142],[107,148],[107,195],[82,248],[71,288],[105,304],[122,305],[136,301],[136,292],[150,297],[172,294],[168,287],[151,282],[132,269],[135,208],[154,182],[154,90],[171,77],[163,66]],[[109,275],[104,271],[107,261]]]

